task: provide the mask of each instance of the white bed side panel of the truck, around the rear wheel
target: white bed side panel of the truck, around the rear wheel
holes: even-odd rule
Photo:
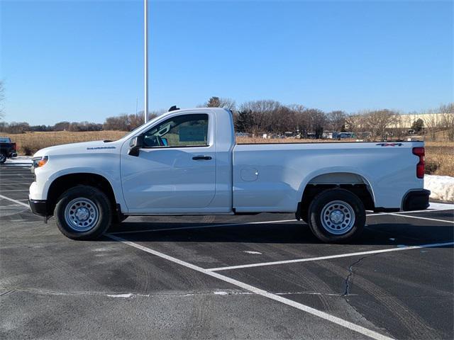
[[[391,144],[391,143],[389,143]],[[362,176],[375,207],[400,208],[416,178],[422,142],[236,145],[233,149],[233,207],[238,212],[294,212],[306,184],[321,174]]]

